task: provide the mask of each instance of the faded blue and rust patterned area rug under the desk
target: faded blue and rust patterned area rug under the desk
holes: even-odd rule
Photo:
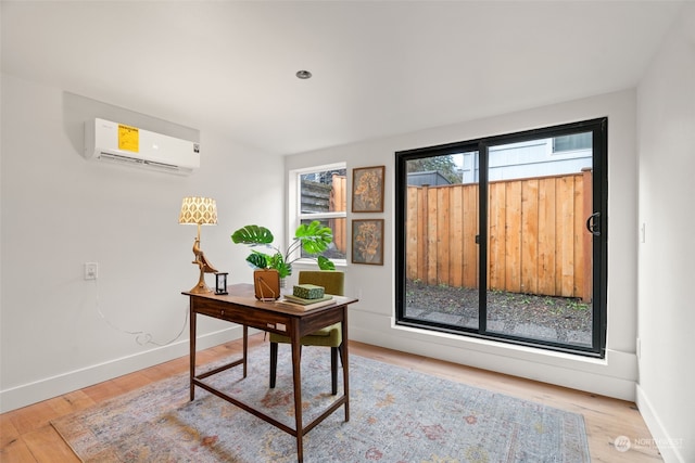
[[[289,346],[275,389],[268,346],[210,382],[294,427]],[[340,408],[304,436],[304,461],[589,462],[582,415],[358,356],[350,358],[350,421]],[[340,382],[339,382],[340,383]],[[328,349],[302,355],[305,423],[332,402]],[[342,394],[342,390],[339,390]],[[52,422],[85,462],[295,462],[295,438],[178,375]]]

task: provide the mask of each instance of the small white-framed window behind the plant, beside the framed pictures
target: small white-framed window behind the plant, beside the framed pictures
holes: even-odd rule
[[[345,165],[336,164],[294,170],[290,183],[294,196],[291,229],[318,220],[333,231],[333,243],[324,256],[344,263],[346,252],[346,182]]]

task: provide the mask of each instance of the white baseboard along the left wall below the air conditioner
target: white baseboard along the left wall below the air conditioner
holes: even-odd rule
[[[198,350],[207,349],[219,344],[238,339],[241,336],[241,326],[231,326],[199,336],[195,342],[195,347]],[[40,402],[42,400],[61,396],[104,381],[113,380],[114,377],[118,377],[124,374],[132,373],[138,370],[186,356],[188,352],[188,339],[184,339],[144,352],[123,357],[121,359],[75,370],[56,376],[42,378],[11,389],[5,389],[0,391],[0,413]]]

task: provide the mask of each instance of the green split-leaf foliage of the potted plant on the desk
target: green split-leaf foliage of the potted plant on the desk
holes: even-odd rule
[[[336,270],[336,265],[330,259],[319,256],[333,242],[333,232],[330,228],[321,226],[318,220],[299,226],[294,232],[294,239],[285,253],[273,244],[275,236],[273,236],[270,230],[261,226],[240,228],[232,233],[231,241],[235,244],[269,248],[271,254],[252,249],[249,257],[247,257],[247,261],[258,270],[276,270],[280,281],[292,274],[292,263],[294,261],[302,257],[307,257],[302,256],[299,252],[300,249],[304,249],[306,254],[311,255],[309,257],[317,261],[319,269]]]

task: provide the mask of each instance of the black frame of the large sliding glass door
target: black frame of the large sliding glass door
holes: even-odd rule
[[[530,141],[539,138],[553,138],[592,131],[592,169],[593,169],[593,210],[599,215],[594,220],[594,230],[599,233],[593,241],[593,301],[592,301],[592,346],[574,346],[541,339],[520,338],[513,335],[485,331],[485,310],[479,311],[480,325],[478,329],[446,325],[439,322],[407,318],[405,314],[406,294],[406,189],[407,189],[407,160],[457,154],[463,152],[479,152],[480,163],[480,210],[485,214],[479,216],[480,232],[480,268],[486,268],[486,230],[488,230],[488,146],[506,143]],[[484,153],[484,154],[483,154]],[[585,357],[605,358],[606,355],[606,327],[607,327],[607,286],[608,286],[608,118],[582,120],[577,123],[549,126],[539,129],[506,133],[500,136],[483,137],[473,140],[454,142],[434,146],[418,147],[413,150],[399,151],[394,153],[394,189],[395,189],[395,323],[396,325],[431,330],[456,334],[468,337],[484,338],[501,343],[509,343],[529,347],[538,347],[545,350],[563,351],[581,355]],[[595,263],[598,262],[598,263]],[[486,272],[480,273],[480,300],[485,300],[486,295]],[[484,306],[484,304],[482,305]],[[482,329],[481,329],[482,326]]]

